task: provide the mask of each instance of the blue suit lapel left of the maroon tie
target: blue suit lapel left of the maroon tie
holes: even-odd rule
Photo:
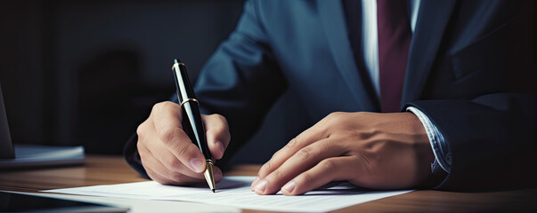
[[[317,1],[317,8],[321,19],[322,28],[332,51],[333,59],[338,66],[338,71],[343,77],[347,87],[352,92],[356,103],[361,106],[360,110],[377,111],[374,105],[376,99],[371,99],[374,93],[367,90],[366,83],[369,79],[363,79],[358,73],[358,67],[354,61],[353,50],[348,39],[346,20],[340,1]],[[370,94],[372,93],[372,94]]]

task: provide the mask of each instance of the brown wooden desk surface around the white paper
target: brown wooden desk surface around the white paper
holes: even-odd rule
[[[227,176],[256,175],[259,166],[237,166]],[[145,181],[121,156],[89,155],[84,166],[39,170],[0,171],[0,190],[35,193],[39,190],[85,185]],[[245,210],[249,212],[250,210]],[[537,211],[537,190],[492,193],[449,193],[416,191],[370,201],[336,212],[455,212],[455,211]]]

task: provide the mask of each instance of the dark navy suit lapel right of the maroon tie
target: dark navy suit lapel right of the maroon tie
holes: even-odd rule
[[[455,2],[421,0],[406,67],[402,104],[421,96]]]

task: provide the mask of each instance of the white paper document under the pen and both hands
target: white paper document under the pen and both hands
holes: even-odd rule
[[[216,184],[216,193],[207,184],[192,186],[160,185],[155,181],[144,181],[118,185],[94,185],[43,191],[45,193],[70,193],[164,201],[193,201],[240,209],[325,212],[342,209],[359,203],[374,201],[411,191],[367,191],[343,183],[327,185],[312,192],[297,196],[257,195],[250,190],[255,177],[224,177]]]

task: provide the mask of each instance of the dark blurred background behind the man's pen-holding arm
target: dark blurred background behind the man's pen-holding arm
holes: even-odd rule
[[[180,58],[191,81],[232,29],[242,0],[20,0],[0,3],[0,83],[16,144],[121,154],[173,91]],[[285,96],[237,162],[265,162],[304,127]],[[271,127],[271,128],[269,128]]]

